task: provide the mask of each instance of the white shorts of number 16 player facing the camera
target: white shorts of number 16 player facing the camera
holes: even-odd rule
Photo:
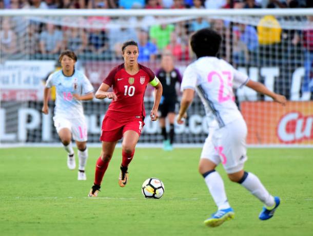
[[[87,141],[87,123],[85,117],[68,119],[60,116],[53,117],[56,132],[60,132],[62,128],[68,128],[75,141]]]

